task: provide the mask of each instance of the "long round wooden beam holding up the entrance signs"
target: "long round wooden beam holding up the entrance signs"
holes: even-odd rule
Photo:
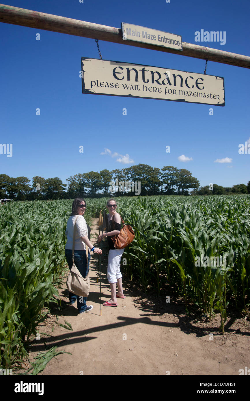
[[[145,49],[163,51],[166,53],[178,54],[181,56],[195,57],[197,59],[207,59],[216,63],[235,65],[237,67],[250,68],[250,57],[229,53],[223,50],[211,49],[205,46],[193,45],[183,42],[183,51],[168,49],[165,47],[139,43],[135,41],[123,41],[122,30],[112,26],[93,24],[75,20],[72,18],[61,17],[43,12],[26,10],[0,4],[0,22],[28,26],[29,28],[51,30],[53,32],[66,33],[69,35],[83,36],[85,38],[100,39],[102,41],[120,43],[122,45],[143,47]]]

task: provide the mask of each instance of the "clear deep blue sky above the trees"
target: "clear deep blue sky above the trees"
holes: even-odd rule
[[[225,45],[197,44],[249,55],[247,0],[8,4],[117,28],[128,22],[172,32],[194,44],[196,31],[226,31]],[[250,154],[238,153],[239,144],[250,143],[249,69],[208,61],[207,74],[224,77],[226,99],[225,107],[214,106],[209,115],[211,105],[82,94],[81,57],[99,58],[94,39],[4,23],[0,37],[0,143],[12,144],[12,157],[0,154],[0,174],[30,180],[59,177],[66,184],[77,173],[143,163],[187,168],[202,186],[250,180]],[[99,45],[106,60],[195,73],[205,69],[205,60],[104,41]],[[41,115],[36,115],[37,108]],[[101,154],[105,148],[111,154]],[[121,156],[112,157],[115,153]],[[193,160],[181,161],[181,155]],[[231,162],[215,162],[226,158]]]

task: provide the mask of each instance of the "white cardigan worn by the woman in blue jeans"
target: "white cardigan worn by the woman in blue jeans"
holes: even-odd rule
[[[73,233],[74,233],[74,223],[75,219],[78,217],[76,222],[76,232],[75,232],[75,250],[86,250],[85,243],[81,240],[80,237],[85,237],[87,235],[87,223],[83,216],[75,215],[70,216],[67,221],[67,228],[65,234],[67,235],[67,243],[65,245],[65,249],[72,249],[73,246]]]

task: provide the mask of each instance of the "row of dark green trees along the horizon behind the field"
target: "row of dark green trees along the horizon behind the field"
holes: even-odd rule
[[[118,180],[118,181],[117,181]],[[212,195],[250,193],[250,181],[247,185],[237,184],[224,188],[213,184],[201,187],[197,178],[189,170],[178,170],[173,166],[163,168],[138,164],[128,168],[109,171],[107,169],[79,173],[67,178],[63,184],[59,177],[43,178],[34,176],[32,184],[27,177],[10,177],[0,174],[0,198],[12,198],[18,201],[72,199],[77,196],[134,196],[134,192],[119,190],[110,192],[110,182],[140,182],[140,195]]]

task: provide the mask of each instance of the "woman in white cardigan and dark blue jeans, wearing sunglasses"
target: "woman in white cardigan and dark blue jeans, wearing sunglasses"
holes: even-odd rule
[[[65,234],[67,236],[67,243],[65,245],[65,257],[67,263],[69,265],[69,269],[73,266],[72,261],[72,247],[73,247],[73,233],[74,233],[74,224],[76,224],[76,233],[75,233],[75,246],[74,246],[74,262],[83,277],[87,276],[89,270],[89,259],[90,252],[88,251],[88,263],[86,257],[86,245],[89,247],[91,251],[94,253],[102,254],[102,250],[100,248],[95,248],[91,242],[89,241],[90,237],[90,227],[87,225],[83,215],[86,210],[86,202],[82,198],[75,198],[72,203],[72,213],[67,221],[67,228]],[[76,223],[75,219],[77,216],[80,216]],[[82,297],[79,295],[72,294],[69,292],[69,302],[70,304],[74,304],[77,300],[77,309],[81,314],[83,312],[87,312],[93,309],[93,305],[86,305],[87,297]]]

